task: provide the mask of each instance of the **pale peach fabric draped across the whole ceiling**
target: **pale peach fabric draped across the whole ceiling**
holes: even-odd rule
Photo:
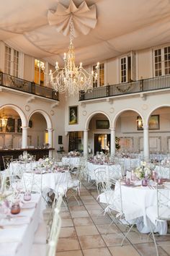
[[[66,13],[73,9],[79,35],[74,39],[76,64],[94,64],[170,42],[169,0],[86,0],[86,4],[84,0],[0,1],[0,40],[61,66],[69,43]]]

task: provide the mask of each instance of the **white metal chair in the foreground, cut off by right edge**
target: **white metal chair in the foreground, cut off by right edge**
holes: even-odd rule
[[[166,234],[167,232],[166,221],[170,221],[170,189],[158,185],[156,186],[156,205],[146,208],[146,216],[150,223],[151,234],[156,247],[156,255],[158,256],[154,229],[160,224],[165,224],[163,233]]]

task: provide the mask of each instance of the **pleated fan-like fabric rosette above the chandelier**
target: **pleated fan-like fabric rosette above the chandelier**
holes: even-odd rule
[[[80,34],[87,35],[89,31],[97,24],[97,9],[93,4],[88,7],[86,1],[83,1],[79,7],[71,0],[68,8],[58,3],[56,11],[48,10],[49,25],[55,26],[56,30],[63,35],[70,33],[70,20],[73,19],[74,32],[73,36],[77,37]]]

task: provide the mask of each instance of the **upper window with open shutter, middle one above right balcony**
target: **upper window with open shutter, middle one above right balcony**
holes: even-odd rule
[[[135,52],[120,58],[120,82],[132,82],[136,79]]]

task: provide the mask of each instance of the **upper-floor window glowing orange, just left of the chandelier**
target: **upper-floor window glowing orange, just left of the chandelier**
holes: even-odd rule
[[[35,83],[38,85],[44,85],[45,75],[43,69],[45,63],[39,59],[35,59]]]

